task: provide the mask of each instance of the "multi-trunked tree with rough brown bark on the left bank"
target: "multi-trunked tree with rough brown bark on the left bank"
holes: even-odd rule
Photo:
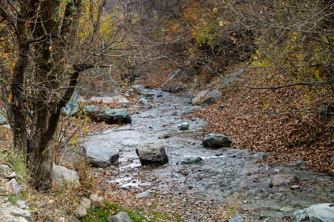
[[[31,171],[31,185],[51,187],[54,137],[61,110],[86,69],[108,48],[99,40],[106,1],[0,2],[1,89],[15,150]],[[86,22],[92,19],[92,22]],[[86,24],[83,27],[82,24]],[[88,26],[87,24],[90,24]]]

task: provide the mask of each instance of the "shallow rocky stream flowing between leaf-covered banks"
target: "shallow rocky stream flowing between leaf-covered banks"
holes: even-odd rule
[[[305,169],[303,161],[272,166],[264,161],[267,153],[204,148],[198,134],[207,122],[186,119],[186,114],[200,109],[191,105],[189,96],[139,85],[136,88],[148,103],[134,106],[131,124],[81,138],[81,146],[87,150],[119,155],[120,164],[110,167],[115,173],[105,176],[104,183],[150,191],[161,201],[180,200],[187,212],[182,216],[186,221],[219,220],[219,216],[214,219],[205,212],[198,213],[200,205],[207,209],[233,203],[238,206],[237,214],[248,212],[253,221],[289,221],[296,210],[334,202],[333,177]],[[189,122],[189,129],[179,130],[184,121]],[[135,148],[144,141],[162,142],[168,164],[141,167]],[[177,164],[187,157],[200,157],[202,161]],[[278,174],[294,176],[294,186],[271,186],[271,179]]]

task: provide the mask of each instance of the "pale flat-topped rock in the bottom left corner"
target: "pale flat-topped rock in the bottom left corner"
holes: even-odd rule
[[[3,222],[27,222],[33,221],[31,213],[15,207],[10,203],[4,203],[0,206],[0,218]]]

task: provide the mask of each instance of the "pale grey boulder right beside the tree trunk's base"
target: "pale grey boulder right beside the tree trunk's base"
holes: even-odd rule
[[[76,171],[67,169],[66,167],[54,165],[54,170],[52,171],[52,181],[56,182],[57,185],[63,185],[74,183],[74,185],[79,185],[79,176]]]

